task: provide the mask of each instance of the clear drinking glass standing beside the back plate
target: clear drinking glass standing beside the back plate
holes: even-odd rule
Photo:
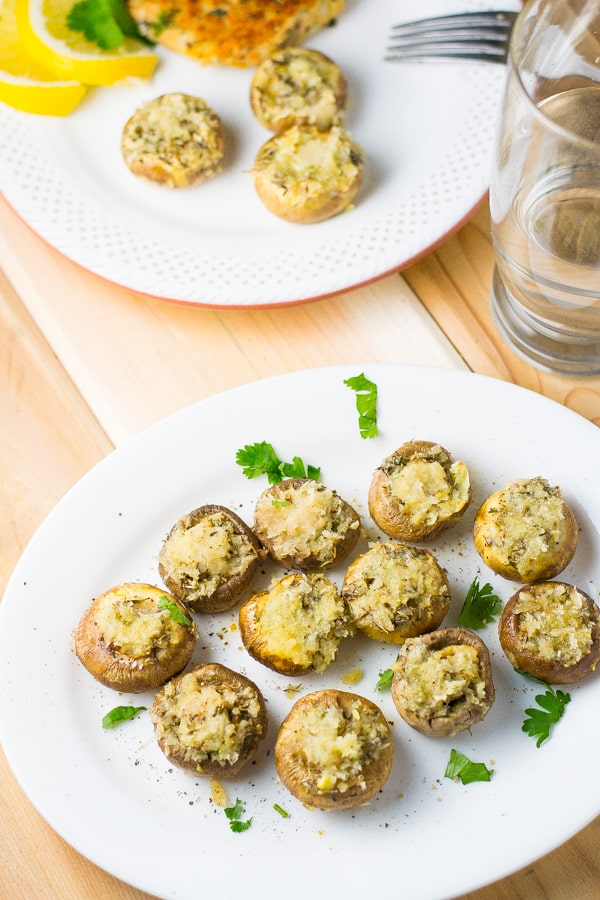
[[[511,39],[490,184],[500,334],[600,373],[600,0],[530,0]]]

